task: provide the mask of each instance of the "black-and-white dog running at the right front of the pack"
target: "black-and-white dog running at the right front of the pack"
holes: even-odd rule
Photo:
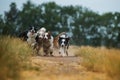
[[[65,54],[68,56],[69,40],[70,38],[66,33],[63,33],[59,36],[59,54],[61,54],[61,56],[63,57],[65,56]]]

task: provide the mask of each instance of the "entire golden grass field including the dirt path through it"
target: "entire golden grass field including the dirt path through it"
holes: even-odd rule
[[[69,56],[35,56],[18,38],[0,36],[0,80],[119,80],[120,50],[70,46]]]

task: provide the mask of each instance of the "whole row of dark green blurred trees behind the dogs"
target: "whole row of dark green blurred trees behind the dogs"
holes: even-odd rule
[[[1,35],[18,36],[30,26],[45,27],[54,36],[66,31],[74,45],[120,47],[120,12],[100,15],[82,6],[27,1],[20,10],[11,3],[9,11],[0,15]]]

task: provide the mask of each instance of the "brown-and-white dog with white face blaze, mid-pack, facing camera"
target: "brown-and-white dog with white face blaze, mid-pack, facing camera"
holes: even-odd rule
[[[51,35],[51,32],[46,32],[43,39],[43,51],[45,53],[44,56],[53,56],[53,36]]]

